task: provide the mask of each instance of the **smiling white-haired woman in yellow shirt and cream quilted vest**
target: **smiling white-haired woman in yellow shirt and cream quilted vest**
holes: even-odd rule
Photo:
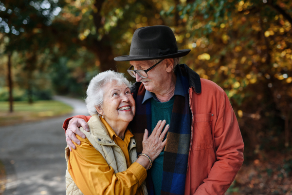
[[[92,78],[87,90],[87,108],[91,115],[90,132],[80,130],[81,144],[70,152],[67,160],[67,195],[147,195],[146,171],[162,152],[168,130],[159,121],[148,137],[145,130],[143,152],[136,154],[136,143],[128,129],[135,115],[135,101],[130,83],[123,74],[106,71]]]

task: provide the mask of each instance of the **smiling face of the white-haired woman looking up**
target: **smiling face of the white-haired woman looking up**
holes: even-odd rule
[[[128,86],[126,84],[119,85],[114,81],[106,84],[104,91],[101,112],[105,120],[109,124],[132,121],[136,106]]]

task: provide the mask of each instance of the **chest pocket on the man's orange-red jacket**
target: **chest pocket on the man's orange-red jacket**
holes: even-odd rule
[[[209,114],[194,115],[192,148],[203,150],[213,147],[211,123],[213,116]]]

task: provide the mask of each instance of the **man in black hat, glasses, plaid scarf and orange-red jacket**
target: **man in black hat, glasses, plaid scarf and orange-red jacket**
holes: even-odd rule
[[[160,119],[170,124],[164,151],[148,171],[150,195],[223,195],[243,162],[243,140],[236,116],[222,88],[202,79],[185,64],[178,64],[190,50],[178,50],[167,26],[135,31],[128,56],[128,73],[136,78],[136,115],[131,131],[142,152],[145,129]],[[88,128],[89,117],[64,122],[66,141],[74,149],[75,134]]]

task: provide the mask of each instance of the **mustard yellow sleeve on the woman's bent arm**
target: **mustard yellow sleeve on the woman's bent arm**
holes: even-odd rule
[[[76,149],[70,152],[68,170],[84,195],[136,194],[147,176],[142,165],[135,162],[126,171],[115,174],[87,138],[76,137],[81,144],[74,143]]]

